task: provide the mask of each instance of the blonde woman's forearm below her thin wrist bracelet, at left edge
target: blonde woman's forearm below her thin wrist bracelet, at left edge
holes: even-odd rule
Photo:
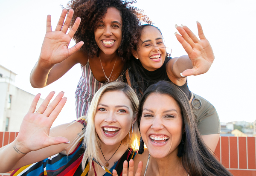
[[[16,140],[0,149],[0,173],[6,173],[13,170],[15,165],[29,153]]]

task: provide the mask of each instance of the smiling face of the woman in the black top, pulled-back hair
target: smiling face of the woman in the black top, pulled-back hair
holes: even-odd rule
[[[166,58],[166,48],[163,36],[154,26],[143,28],[134,57],[139,58],[143,67],[149,71],[160,68]]]

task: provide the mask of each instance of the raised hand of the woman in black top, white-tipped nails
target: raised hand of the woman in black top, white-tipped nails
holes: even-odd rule
[[[212,47],[204,36],[202,26],[199,22],[197,22],[197,26],[200,40],[188,27],[175,25],[176,29],[180,32],[180,35],[175,32],[175,36],[188,53],[193,64],[192,69],[186,69],[182,72],[183,76],[206,73],[214,61]]]

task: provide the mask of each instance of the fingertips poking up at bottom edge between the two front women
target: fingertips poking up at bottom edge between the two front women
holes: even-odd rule
[[[141,176],[143,168],[143,162],[140,161],[138,164],[138,168],[136,170],[135,176]],[[116,170],[113,170],[113,176],[118,176]],[[129,161],[129,169],[128,169],[128,162],[125,161],[123,164],[122,176],[134,176],[134,161],[131,159]]]

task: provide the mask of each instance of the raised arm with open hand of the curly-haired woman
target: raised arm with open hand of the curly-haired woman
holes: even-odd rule
[[[38,62],[35,64],[30,74],[30,83],[32,87],[41,88],[51,84],[64,75],[76,63],[79,63],[76,59],[76,55],[73,54],[77,52],[84,43],[79,42],[71,48],[68,48],[68,45],[78,29],[81,21],[80,18],[76,19],[70,32],[66,34],[73,13],[74,11],[70,9],[64,23],[67,14],[67,10],[64,9],[55,31],[52,31],[51,16],[47,16],[47,32],[44,37],[41,53]],[[71,55],[72,57],[70,57]]]

